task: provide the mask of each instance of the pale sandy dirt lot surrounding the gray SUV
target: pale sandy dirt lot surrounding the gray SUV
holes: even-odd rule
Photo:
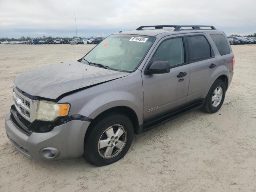
[[[78,45],[78,58],[92,45]],[[216,114],[192,111],[134,136],[109,166],[37,162],[8,141],[4,118],[18,73],[76,59],[75,45],[0,45],[0,191],[256,192],[256,45],[232,46],[232,84]]]

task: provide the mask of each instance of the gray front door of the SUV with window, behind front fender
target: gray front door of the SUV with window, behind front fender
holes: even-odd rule
[[[144,69],[147,70],[156,60],[168,61],[171,69],[166,74],[146,75],[142,72],[144,120],[186,103],[190,79],[186,55],[183,34],[162,38],[155,46]]]

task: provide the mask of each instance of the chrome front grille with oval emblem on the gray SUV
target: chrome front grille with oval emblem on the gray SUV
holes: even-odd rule
[[[33,122],[36,120],[36,110],[38,100],[17,88],[13,87],[13,98],[16,110],[26,120]]]

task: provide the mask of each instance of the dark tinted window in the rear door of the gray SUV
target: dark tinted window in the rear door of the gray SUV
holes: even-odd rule
[[[202,35],[188,36],[190,60],[202,60],[211,57],[211,46]]]

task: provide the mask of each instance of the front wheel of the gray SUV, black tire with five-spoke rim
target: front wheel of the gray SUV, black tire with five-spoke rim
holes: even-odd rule
[[[111,131],[111,128],[113,131]],[[107,136],[106,130],[110,131],[112,134]],[[123,132],[119,138],[113,135],[117,134],[117,130],[122,130],[120,132]],[[116,113],[102,116],[96,123],[92,124],[89,132],[86,133],[84,140],[84,159],[88,163],[96,166],[104,166],[120,160],[124,157],[132,144],[133,130],[130,118],[123,114]],[[107,140],[108,143],[105,142],[107,146],[100,146],[100,140]],[[122,145],[120,149],[116,147],[119,144]],[[110,156],[105,156],[108,149],[112,150]]]

